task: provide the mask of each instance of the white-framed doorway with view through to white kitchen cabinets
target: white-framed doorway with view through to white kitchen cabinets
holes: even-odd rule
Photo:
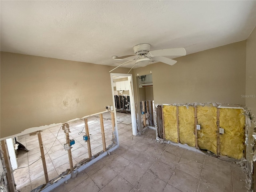
[[[136,125],[132,74],[111,73],[110,76],[116,130],[119,126],[117,135],[124,134],[124,132],[127,130],[127,134],[136,136],[138,132]],[[121,130],[122,128],[124,129]],[[132,130],[132,132],[128,133],[129,130]],[[123,137],[126,138],[127,134],[117,137],[118,145],[119,140],[122,140]]]

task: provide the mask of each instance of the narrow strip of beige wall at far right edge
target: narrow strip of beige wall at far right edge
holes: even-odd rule
[[[249,96],[249,97],[247,97]],[[251,97],[252,96],[252,97]],[[256,115],[256,28],[246,40],[246,106]]]

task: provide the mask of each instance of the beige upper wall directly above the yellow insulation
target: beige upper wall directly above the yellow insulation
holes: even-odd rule
[[[245,105],[241,94],[245,94],[246,41],[175,60],[178,62],[174,66],[156,63],[134,69],[134,77],[152,72],[155,104],[220,102]]]

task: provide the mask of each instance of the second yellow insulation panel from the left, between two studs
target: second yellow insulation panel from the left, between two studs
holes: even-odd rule
[[[179,132],[180,143],[194,147],[195,138],[195,112],[194,107],[179,106]]]

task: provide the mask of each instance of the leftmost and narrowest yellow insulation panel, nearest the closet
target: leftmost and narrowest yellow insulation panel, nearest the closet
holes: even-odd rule
[[[164,105],[165,139],[178,143],[176,106]]]

